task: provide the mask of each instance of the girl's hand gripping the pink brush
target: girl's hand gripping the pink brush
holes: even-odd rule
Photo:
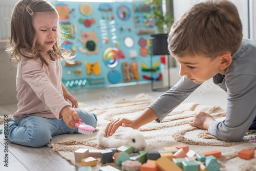
[[[66,105],[61,111],[60,115],[62,115],[64,122],[71,128],[75,129],[75,122],[82,122],[79,118],[78,112],[71,108],[70,105]]]

